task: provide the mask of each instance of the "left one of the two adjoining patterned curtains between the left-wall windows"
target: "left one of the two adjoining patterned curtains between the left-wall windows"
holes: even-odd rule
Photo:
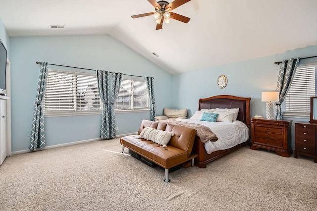
[[[101,101],[103,102],[103,114],[101,119],[100,137],[103,139],[110,138],[109,126],[109,103],[110,103],[110,77],[108,71],[97,70],[98,88]]]

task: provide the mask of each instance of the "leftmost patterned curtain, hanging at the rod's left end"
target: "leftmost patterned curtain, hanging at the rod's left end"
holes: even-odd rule
[[[31,128],[31,141],[29,150],[36,150],[45,147],[44,115],[42,109],[42,99],[45,94],[45,86],[48,78],[49,62],[41,63],[40,77],[36,100],[34,102],[33,122]]]

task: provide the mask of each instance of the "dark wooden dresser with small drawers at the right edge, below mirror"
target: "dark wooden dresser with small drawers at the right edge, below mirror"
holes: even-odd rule
[[[305,155],[314,158],[317,162],[317,123],[296,122],[295,123],[295,151],[297,155]]]

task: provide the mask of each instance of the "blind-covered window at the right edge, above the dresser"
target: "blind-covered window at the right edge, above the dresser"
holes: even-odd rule
[[[317,95],[317,64],[297,67],[282,104],[284,114],[309,116],[310,97]]]

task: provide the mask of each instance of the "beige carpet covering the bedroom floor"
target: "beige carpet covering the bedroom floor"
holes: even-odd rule
[[[1,211],[316,211],[317,163],[241,148],[170,173],[120,154],[119,139],[8,157]]]

